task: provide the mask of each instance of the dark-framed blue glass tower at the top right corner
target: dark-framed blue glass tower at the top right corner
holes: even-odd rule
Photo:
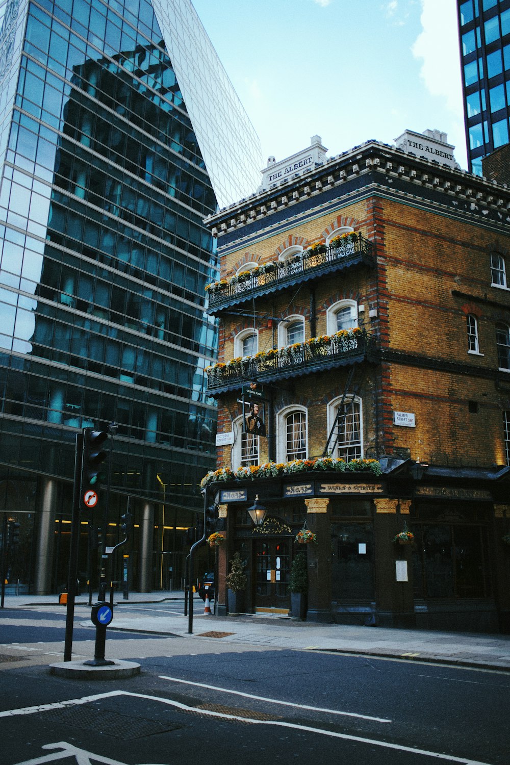
[[[457,0],[468,169],[508,143],[510,0]]]

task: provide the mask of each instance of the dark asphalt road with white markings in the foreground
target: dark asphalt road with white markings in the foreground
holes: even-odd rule
[[[54,611],[0,613],[2,765],[508,765],[508,672],[122,632],[107,646],[140,675],[69,680],[48,671],[63,650],[65,614]],[[73,659],[93,655],[87,615],[76,609]]]

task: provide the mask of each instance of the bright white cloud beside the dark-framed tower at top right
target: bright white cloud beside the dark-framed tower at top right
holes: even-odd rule
[[[421,0],[421,34],[411,47],[421,59],[421,78],[432,96],[446,101],[447,109],[463,113],[456,5],[444,0]]]

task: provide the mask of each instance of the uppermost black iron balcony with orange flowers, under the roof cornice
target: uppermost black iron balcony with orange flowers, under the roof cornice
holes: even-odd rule
[[[373,267],[372,242],[361,234],[352,234],[336,245],[319,245],[305,250],[301,256],[265,263],[229,281],[214,282],[207,289],[210,314],[219,313],[232,305],[290,287],[297,282],[320,278],[338,270],[352,269],[359,264]]]

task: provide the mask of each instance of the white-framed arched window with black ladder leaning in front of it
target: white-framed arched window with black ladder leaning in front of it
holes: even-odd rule
[[[334,430],[333,430],[334,425]],[[356,396],[333,399],[328,406],[328,435],[333,430],[330,448],[333,457],[342,457],[349,462],[363,456],[362,401]],[[333,448],[333,444],[336,445]]]

